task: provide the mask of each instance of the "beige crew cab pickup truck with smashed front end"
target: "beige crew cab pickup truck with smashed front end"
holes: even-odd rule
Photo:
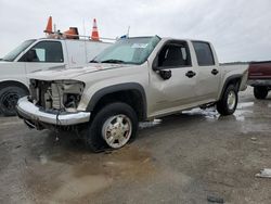
[[[138,123],[195,106],[233,114],[247,65],[220,66],[211,43],[136,37],[120,39],[89,66],[31,74],[18,116],[33,128],[76,129],[91,150],[119,149]]]

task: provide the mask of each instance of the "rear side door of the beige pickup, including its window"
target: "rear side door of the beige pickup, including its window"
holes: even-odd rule
[[[215,60],[214,50],[208,42],[192,41],[197,59],[197,101],[208,103],[217,100],[220,82],[220,69]]]

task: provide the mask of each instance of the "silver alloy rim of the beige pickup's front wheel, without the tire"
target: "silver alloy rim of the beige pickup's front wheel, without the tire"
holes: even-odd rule
[[[132,123],[126,115],[115,115],[105,120],[102,136],[105,142],[113,149],[124,146],[132,133]]]

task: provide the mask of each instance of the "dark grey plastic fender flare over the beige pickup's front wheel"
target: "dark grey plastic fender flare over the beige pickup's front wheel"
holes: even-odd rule
[[[142,98],[142,105],[143,105],[143,118],[146,118],[146,94],[145,90],[142,87],[142,85],[138,82],[125,82],[125,84],[118,84],[113,85],[108,87],[104,87],[96,91],[90,99],[90,102],[87,106],[87,111],[91,112],[96,106],[98,102],[106,94],[118,92],[118,91],[138,91]]]

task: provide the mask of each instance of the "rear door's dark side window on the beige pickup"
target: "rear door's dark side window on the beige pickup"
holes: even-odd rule
[[[215,60],[209,43],[194,41],[193,47],[195,49],[196,59],[199,66],[215,65]]]

